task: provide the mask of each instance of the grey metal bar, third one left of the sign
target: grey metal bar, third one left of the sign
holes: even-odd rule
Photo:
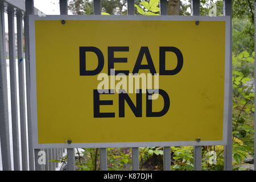
[[[8,31],[9,31],[9,63],[10,63],[10,85],[11,85],[11,123],[13,131],[13,162],[14,171],[20,170],[19,162],[19,128],[18,128],[18,97],[16,82],[16,60],[15,60],[15,32],[14,32],[14,8],[9,6]]]

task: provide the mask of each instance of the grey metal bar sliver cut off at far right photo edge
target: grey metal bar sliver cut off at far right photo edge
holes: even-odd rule
[[[256,0],[254,1],[254,10],[256,10]],[[256,22],[256,13],[254,13],[254,22]],[[254,24],[254,52],[256,52],[256,24]],[[254,61],[254,94],[256,95],[256,61]],[[256,97],[254,97],[254,103],[256,103]],[[256,110],[256,104],[254,104],[254,110]],[[256,171],[256,113],[254,112],[254,171]]]

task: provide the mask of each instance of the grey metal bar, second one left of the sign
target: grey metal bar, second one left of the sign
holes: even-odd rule
[[[26,126],[26,100],[25,79],[23,61],[23,25],[22,11],[16,11],[17,23],[17,47],[18,47],[18,69],[19,69],[19,113],[20,113],[20,140],[22,150],[22,170],[28,170],[27,164],[27,126]]]

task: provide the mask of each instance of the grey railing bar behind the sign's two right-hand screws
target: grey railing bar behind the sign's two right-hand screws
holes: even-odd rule
[[[200,16],[200,0],[192,0],[191,14],[193,16]],[[194,146],[194,169],[201,170],[201,146]]]

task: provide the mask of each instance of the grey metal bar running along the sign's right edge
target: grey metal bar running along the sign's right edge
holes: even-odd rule
[[[232,0],[224,0],[223,2],[224,16],[232,17]],[[232,27],[232,21],[230,21],[230,27]],[[229,67],[229,103],[228,103],[228,142],[224,149],[224,169],[232,171],[232,30],[230,28],[230,67]]]

